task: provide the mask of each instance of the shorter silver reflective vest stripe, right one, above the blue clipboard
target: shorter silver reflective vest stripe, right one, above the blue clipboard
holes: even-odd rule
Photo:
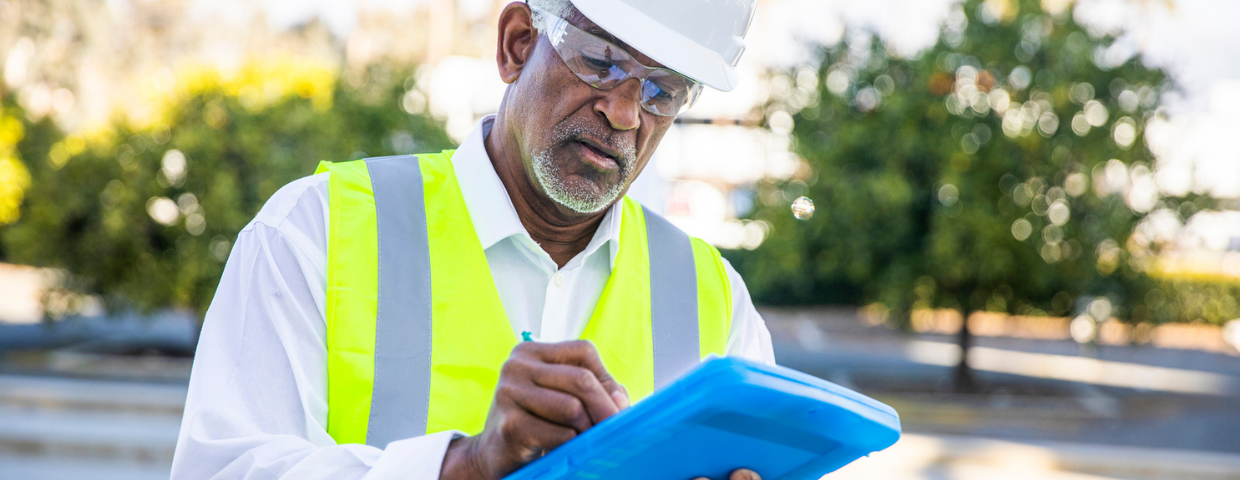
[[[701,361],[697,265],[689,236],[642,206],[650,248],[650,320],[655,340],[655,389]]]

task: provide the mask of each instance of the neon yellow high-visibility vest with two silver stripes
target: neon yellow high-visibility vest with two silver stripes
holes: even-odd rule
[[[482,430],[520,339],[500,303],[453,150],[322,162],[330,171],[327,433],[340,444]],[[582,339],[639,401],[723,355],[719,252],[625,197],[619,252]]]

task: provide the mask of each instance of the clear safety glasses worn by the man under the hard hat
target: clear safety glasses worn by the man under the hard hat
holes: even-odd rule
[[[698,96],[702,84],[667,68],[652,68],[637,62],[615,43],[587,33],[543,9],[531,7],[546,19],[547,38],[582,82],[609,91],[629,78],[641,81],[641,108],[661,117],[683,113]]]

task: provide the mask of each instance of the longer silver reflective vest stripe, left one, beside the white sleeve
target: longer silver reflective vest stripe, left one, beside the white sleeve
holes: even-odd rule
[[[374,387],[366,444],[427,434],[430,404],[430,246],[413,155],[366,159],[378,217]]]

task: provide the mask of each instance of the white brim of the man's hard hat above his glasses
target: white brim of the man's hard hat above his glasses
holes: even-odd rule
[[[737,68],[719,53],[651,20],[622,1],[573,1],[582,15],[642,55],[722,92],[737,88]]]

